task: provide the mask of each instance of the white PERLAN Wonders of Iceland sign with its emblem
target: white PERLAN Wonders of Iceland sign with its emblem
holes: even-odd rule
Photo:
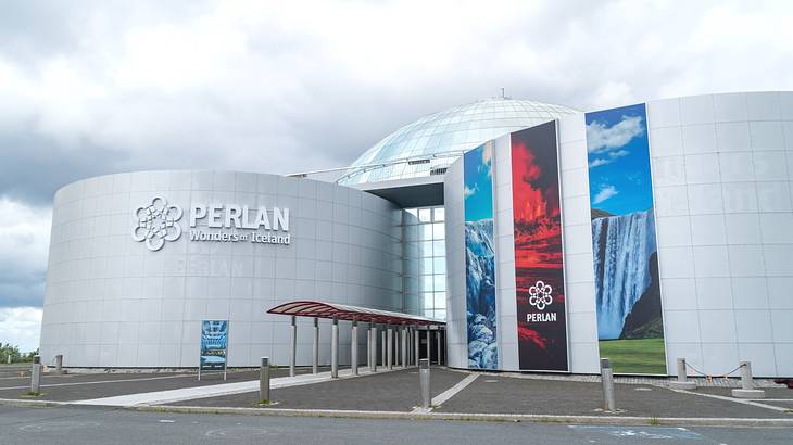
[[[159,251],[165,241],[181,237],[182,211],[163,196],[135,208],[133,239]],[[193,204],[190,206],[190,241],[251,242],[289,245],[289,208],[247,205]]]

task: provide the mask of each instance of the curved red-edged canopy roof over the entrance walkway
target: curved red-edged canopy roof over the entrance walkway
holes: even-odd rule
[[[433,318],[419,317],[412,314],[392,313],[389,310],[370,309],[368,307],[350,306],[325,302],[290,302],[278,305],[268,314],[292,315],[295,317],[336,318],[347,321],[362,321],[386,325],[445,325],[445,321]]]

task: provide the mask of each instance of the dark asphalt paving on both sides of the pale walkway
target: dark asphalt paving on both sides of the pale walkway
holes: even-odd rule
[[[325,371],[327,368],[320,369]],[[270,371],[273,379],[288,376],[288,369]],[[298,374],[311,368],[298,368]],[[474,378],[475,377],[475,378]],[[322,376],[320,376],[322,378]],[[194,372],[127,372],[127,373],[46,373],[41,380],[42,394],[32,397],[29,377],[0,377],[0,398],[77,402],[141,393],[166,392],[206,386],[206,395],[190,395],[182,402],[149,402],[172,406],[240,407],[259,406],[259,393],[248,389],[236,394],[222,390],[224,383],[255,382],[257,370],[231,370],[224,381],[222,374],[204,374],[198,381]],[[464,381],[465,379],[465,381]],[[602,385],[596,381],[566,379],[547,380],[530,376],[476,373],[431,368],[431,397],[451,393],[433,402],[439,414],[496,414],[539,416],[626,416],[656,418],[743,418],[793,419],[793,390],[767,387],[766,399],[738,400],[730,397],[729,387],[700,387],[679,392],[658,384],[616,383],[616,412],[602,409]],[[210,387],[212,386],[212,387]],[[256,385],[246,386],[256,387]],[[214,391],[214,393],[209,393]],[[153,398],[156,400],[156,397]],[[411,412],[419,405],[420,393],[416,368],[391,372],[299,382],[287,387],[274,387],[274,405],[265,409],[320,409]],[[95,402],[96,403],[96,402]],[[101,400],[98,404],[102,404]]]

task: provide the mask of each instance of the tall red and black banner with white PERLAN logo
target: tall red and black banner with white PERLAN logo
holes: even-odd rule
[[[567,371],[556,123],[511,138],[519,366]]]

